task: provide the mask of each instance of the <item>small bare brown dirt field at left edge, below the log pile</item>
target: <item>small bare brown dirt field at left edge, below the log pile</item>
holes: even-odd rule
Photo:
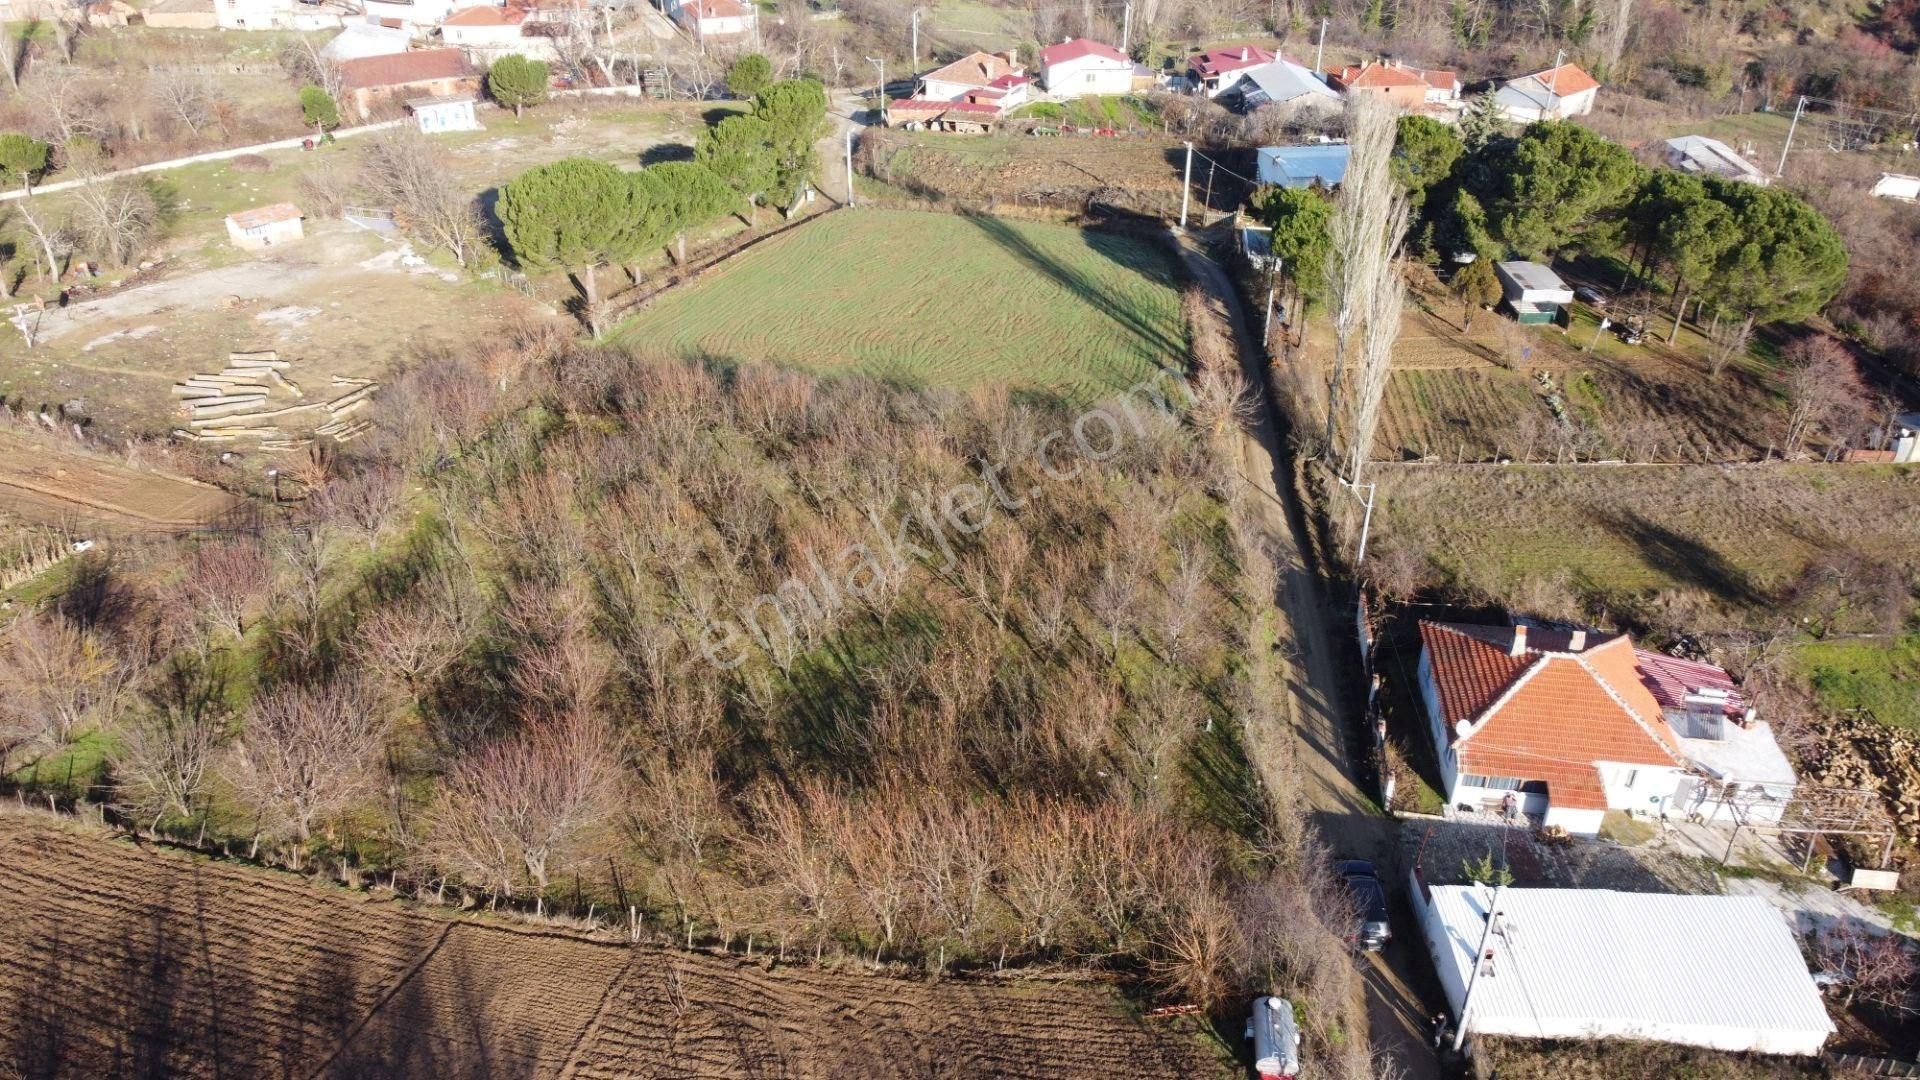
[[[73,517],[142,532],[205,525],[234,507],[234,496],[198,480],[113,465],[0,434],[0,509],[29,521]]]

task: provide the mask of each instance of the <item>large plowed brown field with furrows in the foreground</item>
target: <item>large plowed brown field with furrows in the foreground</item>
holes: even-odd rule
[[[0,1076],[1221,1076],[1098,986],[451,920],[0,811]]]

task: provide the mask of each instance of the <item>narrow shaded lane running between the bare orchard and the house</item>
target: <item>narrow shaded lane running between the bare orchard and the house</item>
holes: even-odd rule
[[[1413,990],[1428,984],[1430,974],[1413,915],[1400,897],[1404,890],[1396,888],[1404,880],[1398,872],[1398,828],[1365,794],[1363,784],[1371,782],[1361,778],[1361,757],[1354,746],[1363,724],[1350,715],[1350,703],[1340,694],[1344,684],[1357,678],[1342,659],[1336,638],[1350,632],[1352,617],[1329,607],[1319,575],[1306,557],[1306,519],[1281,455],[1283,421],[1267,394],[1265,357],[1248,329],[1238,292],[1227,271],[1192,242],[1183,242],[1183,254],[1200,284],[1225,302],[1246,380],[1260,398],[1256,425],[1240,440],[1240,475],[1265,507],[1269,532],[1277,540],[1281,594],[1275,600],[1286,615],[1281,634],[1292,661],[1286,678],[1288,711],[1300,738],[1300,763],[1315,826],[1336,855],[1371,859],[1382,876],[1394,878],[1388,894],[1396,896],[1398,938],[1384,953],[1361,959],[1371,1040],[1392,1061],[1392,1074],[1436,1080],[1440,1065],[1427,1043],[1428,1005]]]

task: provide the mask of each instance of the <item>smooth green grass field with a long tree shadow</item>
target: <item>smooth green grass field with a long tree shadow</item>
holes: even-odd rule
[[[1152,240],[854,209],[674,290],[616,331],[641,354],[1087,402],[1181,363],[1173,256]]]

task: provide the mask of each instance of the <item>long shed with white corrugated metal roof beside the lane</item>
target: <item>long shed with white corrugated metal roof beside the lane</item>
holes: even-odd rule
[[[1434,886],[1415,907],[1457,1015],[1494,890]],[[1820,1053],[1834,1034],[1786,919],[1753,896],[1509,888],[1469,1034],[1630,1038]]]

